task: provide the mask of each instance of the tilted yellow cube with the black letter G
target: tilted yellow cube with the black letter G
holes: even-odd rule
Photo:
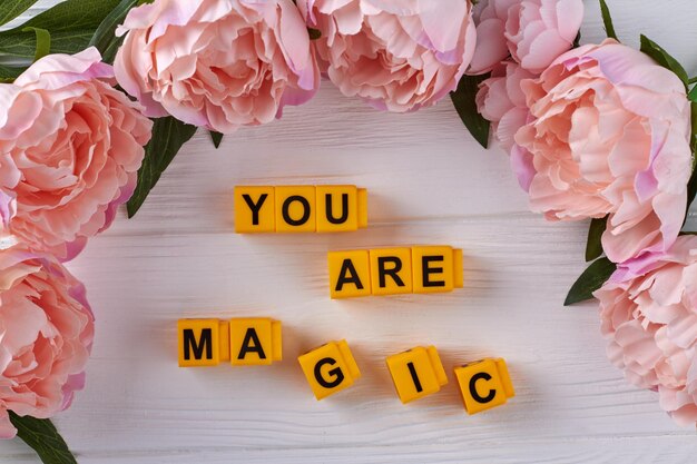
[[[317,401],[348,388],[361,377],[346,340],[330,342],[301,355],[297,361]]]

